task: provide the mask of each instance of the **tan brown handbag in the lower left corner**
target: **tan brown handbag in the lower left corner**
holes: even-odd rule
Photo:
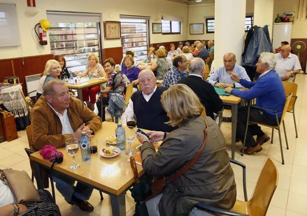
[[[25,171],[0,170],[0,180],[10,187],[17,203],[40,201],[38,192]]]

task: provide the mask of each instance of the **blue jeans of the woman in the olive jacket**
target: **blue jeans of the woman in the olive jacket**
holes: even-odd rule
[[[159,201],[162,197],[163,193],[153,197],[152,199],[146,201],[146,207],[147,207],[147,211],[149,216],[160,216],[159,213]],[[197,208],[193,208],[189,214],[189,216],[214,216],[212,214],[209,214],[207,212],[204,212],[202,210],[199,210]]]

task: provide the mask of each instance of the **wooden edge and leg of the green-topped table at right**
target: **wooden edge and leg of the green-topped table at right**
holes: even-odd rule
[[[237,122],[238,122],[238,106],[242,101],[242,98],[235,95],[219,96],[224,105],[231,106],[231,158],[235,157],[236,150],[236,133],[237,133]]]

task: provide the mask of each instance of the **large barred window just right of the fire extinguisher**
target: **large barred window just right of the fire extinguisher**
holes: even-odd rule
[[[100,22],[97,22],[99,18],[87,16],[87,14],[85,16],[78,13],[66,14],[65,12],[55,14],[47,12],[51,23],[49,29],[51,53],[64,56],[69,72],[76,70],[81,72],[89,63],[89,54],[97,55],[101,62]],[[61,20],[67,20],[67,22],[61,22]]]

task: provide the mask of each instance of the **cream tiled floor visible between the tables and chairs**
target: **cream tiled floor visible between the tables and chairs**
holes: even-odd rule
[[[281,164],[277,131],[275,131],[274,144],[270,142],[264,144],[263,151],[258,154],[241,156],[238,154],[242,148],[241,143],[237,143],[236,147],[235,159],[246,164],[248,198],[252,196],[266,158],[272,158],[277,166],[279,182],[267,213],[268,216],[307,216],[307,133],[305,134],[305,131],[307,131],[307,100],[303,99],[307,98],[307,75],[298,75],[296,83],[299,84],[295,108],[299,138],[295,138],[292,114],[287,113],[285,123],[289,150],[285,148],[282,131],[285,164]],[[107,120],[110,121],[110,117],[107,117]],[[230,155],[231,124],[223,123],[221,130],[225,136],[227,151]],[[271,136],[270,128],[264,127],[263,130]],[[26,131],[19,131],[18,136],[17,140],[0,143],[0,169],[26,170],[31,175],[29,159],[24,151],[24,148],[29,146]],[[242,170],[240,167],[236,167],[236,165],[233,166],[233,170],[237,183],[237,199],[243,200]],[[104,200],[100,201],[99,192],[97,190],[93,191],[90,203],[92,203],[95,209],[92,213],[87,214],[81,212],[79,208],[66,203],[61,194],[56,190],[57,204],[63,216],[111,216],[110,196],[107,194],[103,194],[103,196]],[[134,201],[131,198],[130,192],[126,194],[126,212],[127,216],[132,216],[134,213]]]

